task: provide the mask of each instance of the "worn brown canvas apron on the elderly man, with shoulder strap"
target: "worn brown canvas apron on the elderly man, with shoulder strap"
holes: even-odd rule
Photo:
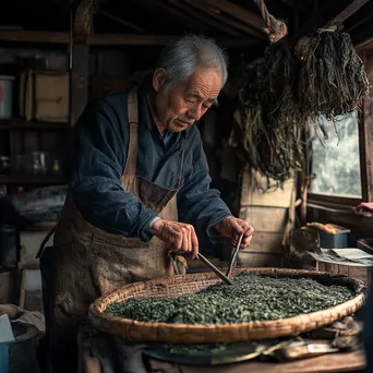
[[[178,220],[177,192],[136,176],[137,97],[128,103],[130,141],[122,186],[163,219]],[[182,154],[180,155],[183,158]],[[108,233],[83,219],[70,194],[55,230],[53,245],[40,248],[46,345],[53,372],[74,372],[79,321],[103,293],[133,281],[185,274],[182,256],[172,260],[165,242]],[[69,363],[71,360],[71,363]]]

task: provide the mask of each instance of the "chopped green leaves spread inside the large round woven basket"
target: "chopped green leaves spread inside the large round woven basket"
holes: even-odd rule
[[[106,313],[155,323],[237,324],[325,310],[353,297],[346,287],[326,286],[308,278],[241,273],[233,281],[233,286],[217,284],[177,298],[133,298],[111,303]]]

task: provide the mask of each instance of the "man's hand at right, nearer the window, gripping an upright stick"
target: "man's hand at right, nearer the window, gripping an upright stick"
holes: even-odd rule
[[[248,221],[233,216],[228,216],[219,221],[215,225],[215,229],[221,236],[229,238],[233,245],[237,245],[240,236],[243,233],[240,249],[248,248],[254,234],[254,228]]]

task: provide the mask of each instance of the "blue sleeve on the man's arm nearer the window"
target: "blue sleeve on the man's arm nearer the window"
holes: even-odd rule
[[[216,242],[220,237],[213,227],[232,214],[220,198],[219,191],[209,189],[210,181],[207,159],[198,135],[193,167],[178,193],[179,219],[193,225],[197,233],[207,234],[210,241]]]

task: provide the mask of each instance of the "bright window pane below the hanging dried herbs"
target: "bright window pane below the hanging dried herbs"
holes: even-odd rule
[[[324,129],[310,125],[311,173],[310,193],[340,197],[362,196],[358,113],[337,118],[322,117]],[[325,139],[326,136],[326,139]]]

